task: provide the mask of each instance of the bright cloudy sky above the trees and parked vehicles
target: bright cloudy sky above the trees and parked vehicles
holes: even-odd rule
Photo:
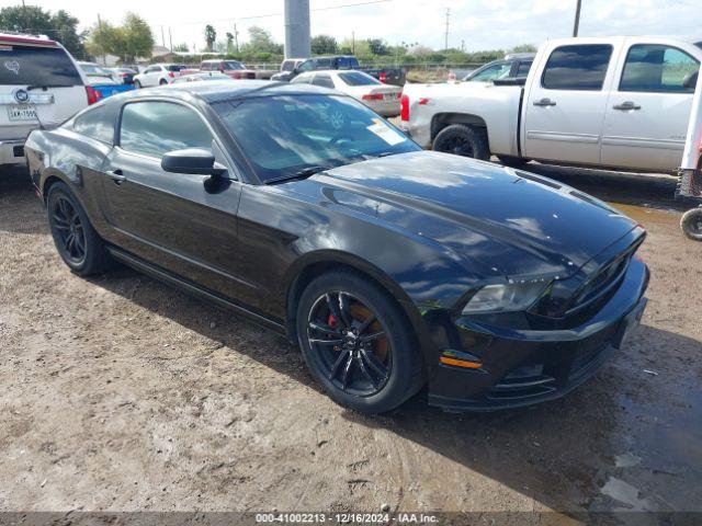
[[[0,0],[0,5],[19,2]],[[233,32],[239,43],[247,28],[260,25],[278,42],[284,41],[283,0],[26,0],[56,11],[65,9],[82,27],[98,20],[118,23],[133,11],[147,20],[157,44],[169,28],[173,45],[204,47],[204,26],[212,24],[217,38]],[[339,42],[384,38],[389,44],[419,43],[441,49],[446,9],[449,46],[466,50],[508,49],[519,44],[539,45],[547,38],[570,36],[576,0],[310,0],[312,34],[330,34]],[[340,5],[355,4],[346,8]],[[337,9],[338,8],[338,9]],[[702,39],[702,0],[582,0],[581,36],[686,35]],[[161,33],[162,27],[162,33]]]

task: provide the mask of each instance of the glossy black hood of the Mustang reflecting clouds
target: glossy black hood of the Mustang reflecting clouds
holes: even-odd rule
[[[636,226],[555,181],[448,153],[348,164],[297,190],[319,185],[331,202],[441,243],[483,276],[565,277]]]

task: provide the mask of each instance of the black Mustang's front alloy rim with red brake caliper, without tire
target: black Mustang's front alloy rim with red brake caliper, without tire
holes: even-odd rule
[[[393,367],[393,353],[377,316],[350,293],[326,293],[307,320],[307,340],[325,376],[346,393],[378,393]]]

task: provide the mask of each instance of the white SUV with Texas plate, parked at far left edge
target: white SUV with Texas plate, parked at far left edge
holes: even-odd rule
[[[59,43],[0,33],[0,168],[25,162],[30,132],[63,123],[98,96]]]

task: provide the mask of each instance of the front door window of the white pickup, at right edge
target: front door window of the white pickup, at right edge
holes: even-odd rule
[[[694,93],[700,62],[670,46],[632,46],[626,55],[620,91]]]

